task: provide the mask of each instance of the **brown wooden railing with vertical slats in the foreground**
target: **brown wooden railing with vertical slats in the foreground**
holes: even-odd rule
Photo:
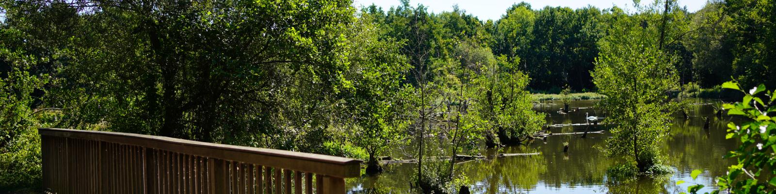
[[[362,162],[133,133],[39,133],[48,193],[345,193]]]

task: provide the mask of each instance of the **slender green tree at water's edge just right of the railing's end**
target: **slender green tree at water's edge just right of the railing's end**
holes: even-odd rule
[[[386,151],[390,145],[404,140],[411,120],[411,87],[402,84],[404,74],[411,68],[396,41],[379,40],[379,29],[371,23],[369,15],[361,15],[349,28],[346,47],[350,69],[343,88],[343,109],[349,115],[343,121],[352,126],[347,137],[369,154],[367,173],[381,171],[376,154]]]

